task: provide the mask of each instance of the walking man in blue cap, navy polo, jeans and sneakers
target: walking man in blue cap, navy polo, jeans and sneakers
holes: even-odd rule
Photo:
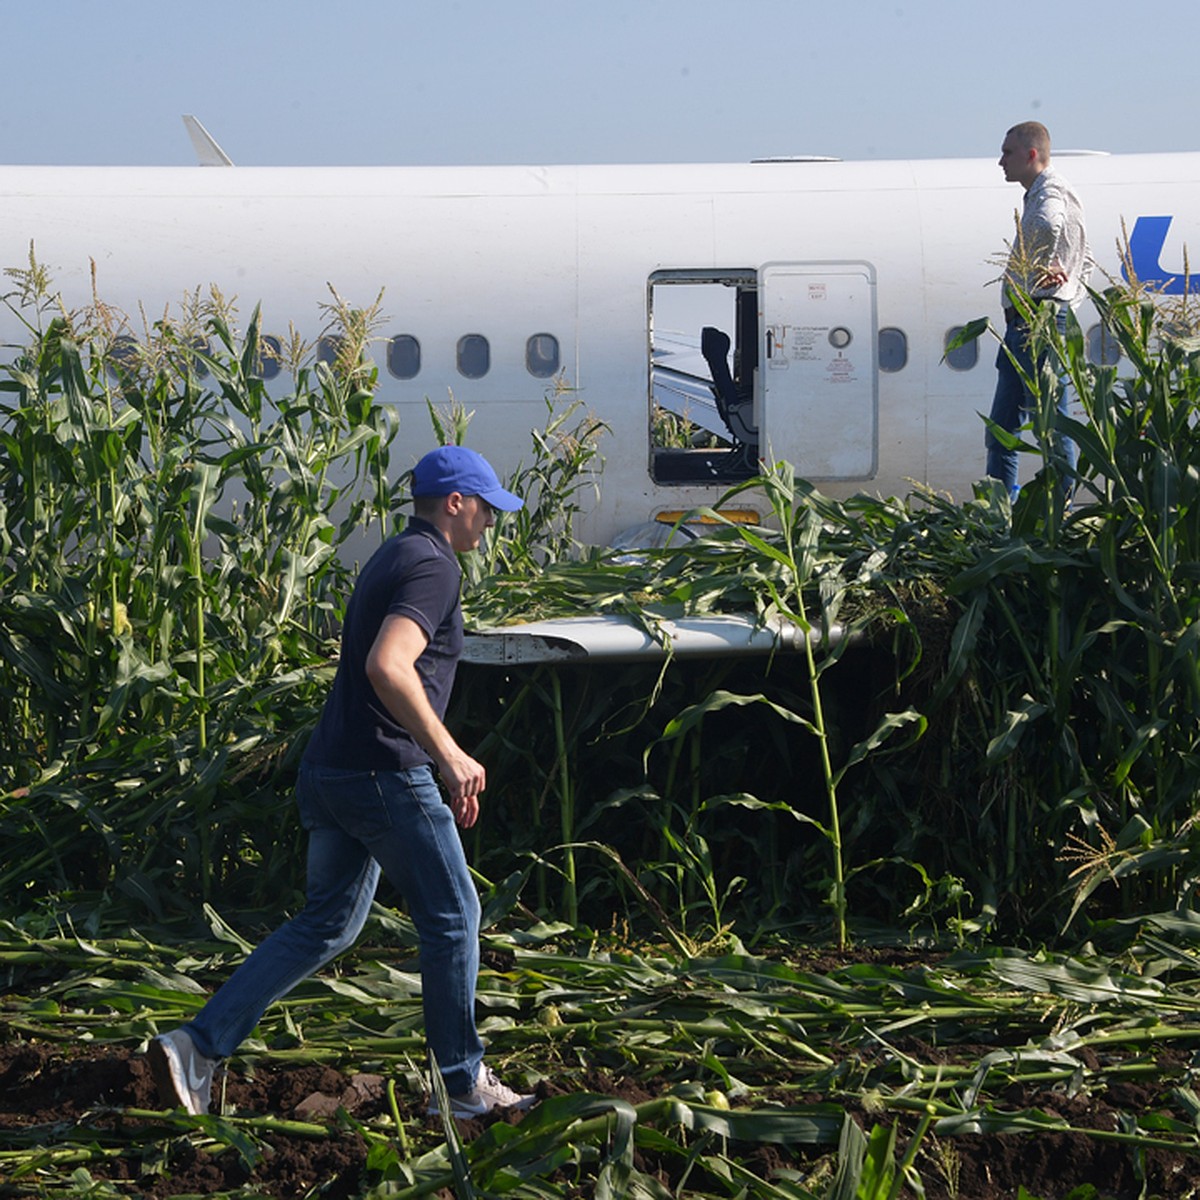
[[[433,450],[413,469],[414,516],[359,576],[334,686],[300,764],[305,907],[193,1021],[150,1043],[164,1103],[208,1111],[217,1061],[269,1004],[354,943],[382,871],[420,937],[425,1037],[454,1116],[533,1104],[484,1064],[475,1028],[480,904],[455,823],[475,823],[486,776],[443,724],[463,643],[455,554],[478,547],[497,509],[521,505],[466,446]]]

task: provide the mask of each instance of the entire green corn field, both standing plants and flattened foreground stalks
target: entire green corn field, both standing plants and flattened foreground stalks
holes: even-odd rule
[[[400,428],[373,310],[336,296],[338,359],[294,338],[269,395],[257,313],[239,331],[217,293],[131,341],[100,304],[55,310],[34,262],[8,275],[30,342],[0,380],[0,1049],[125,1061],[300,902],[290,784],[354,564],[398,528],[402,462],[469,444],[469,414]],[[420,1120],[415,943],[382,892],[364,944],[238,1056],[222,1115],[146,1109],[134,1073],[132,1140],[102,1099],[78,1134],[0,1121],[0,1194],[182,1194],[181,1142],[241,1164],[230,1195],[882,1200],[974,1194],[954,1162],[980,1134],[1078,1135],[1144,1187],[1154,1154],[1200,1152],[1200,342],[1186,307],[1096,300],[1121,372],[1031,312],[1046,362],[1014,440],[1042,470],[1015,503],[988,481],[836,502],[784,463],[731,492],[762,527],[582,547],[605,431],[547,396],[508,481],[527,510],[464,562],[469,623],[752,612],[812,637],[460,668],[448,724],[490,780],[484,1032],[530,1117],[466,1145]],[[332,1126],[245,1115],[263,1098],[238,1087],[299,1063],[383,1091],[335,1098]],[[1048,1099],[1147,1081],[1103,1136]],[[254,1175],[349,1133],[350,1190]]]

